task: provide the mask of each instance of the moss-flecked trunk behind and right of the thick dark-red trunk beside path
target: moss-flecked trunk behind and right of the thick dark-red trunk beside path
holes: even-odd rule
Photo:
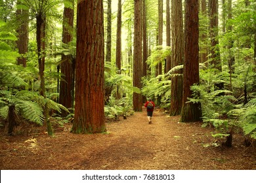
[[[210,16],[210,38],[211,38],[211,63],[213,68],[222,71],[221,54],[219,51],[219,16],[218,16],[218,0],[209,0],[209,16]],[[215,84],[215,90],[223,90],[224,83]]]

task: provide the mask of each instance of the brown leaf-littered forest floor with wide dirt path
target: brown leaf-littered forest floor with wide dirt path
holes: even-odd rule
[[[1,131],[0,169],[256,169],[256,147],[245,147],[239,133],[232,148],[216,146],[213,128],[179,118],[156,109],[148,124],[143,110],[93,135],[70,133],[72,124],[55,129],[54,137],[39,131],[9,137]]]

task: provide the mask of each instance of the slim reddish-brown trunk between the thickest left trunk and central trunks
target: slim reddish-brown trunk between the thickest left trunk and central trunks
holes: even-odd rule
[[[116,66],[118,73],[121,73],[121,0],[118,0],[118,9],[117,9],[117,31],[116,31]]]

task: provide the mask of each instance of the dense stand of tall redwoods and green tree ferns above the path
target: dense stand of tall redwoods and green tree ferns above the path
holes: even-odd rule
[[[232,146],[256,139],[255,0],[0,1],[0,116],[73,122],[73,133],[142,111],[147,97]],[[103,37],[104,35],[104,37]]]

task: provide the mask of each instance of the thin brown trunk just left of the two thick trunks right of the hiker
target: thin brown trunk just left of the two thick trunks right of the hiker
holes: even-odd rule
[[[170,0],[166,0],[166,46],[171,46],[171,12]],[[165,73],[171,70],[171,56],[167,56]]]

